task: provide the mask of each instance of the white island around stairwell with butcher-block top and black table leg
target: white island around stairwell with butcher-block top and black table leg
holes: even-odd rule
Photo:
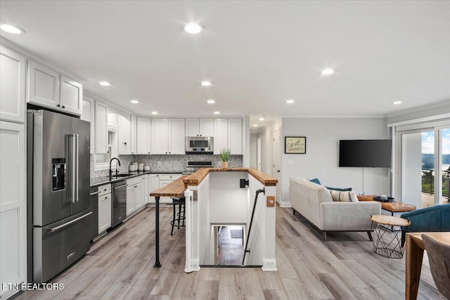
[[[243,266],[276,270],[277,179],[251,168],[203,168],[150,193],[156,198],[155,268],[159,261],[159,197],[186,197],[186,273],[213,266],[214,226],[242,226]],[[263,195],[261,195],[263,194]],[[250,230],[251,229],[251,230]],[[250,234],[249,234],[250,232]]]

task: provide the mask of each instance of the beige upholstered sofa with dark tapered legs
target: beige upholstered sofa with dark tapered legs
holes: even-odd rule
[[[370,240],[372,214],[380,214],[381,204],[375,201],[333,202],[323,185],[303,178],[289,179],[290,204],[295,211],[322,231],[366,231]]]

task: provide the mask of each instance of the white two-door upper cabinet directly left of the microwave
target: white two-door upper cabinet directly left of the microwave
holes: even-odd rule
[[[152,119],[152,154],[184,154],[184,119]]]

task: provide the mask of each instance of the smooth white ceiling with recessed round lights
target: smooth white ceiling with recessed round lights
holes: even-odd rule
[[[450,100],[450,1],[0,5],[0,22],[26,31],[2,37],[138,115],[203,117],[219,110],[250,115],[261,126],[261,115],[385,117]],[[184,32],[191,21],[203,32]],[[321,75],[326,67],[335,74]],[[205,79],[214,85],[200,86]],[[102,80],[113,86],[99,86]],[[210,98],[217,103],[207,105]],[[295,104],[285,104],[289,98]]]

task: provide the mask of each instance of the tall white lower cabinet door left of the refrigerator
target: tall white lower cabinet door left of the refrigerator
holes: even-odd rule
[[[0,281],[18,284],[27,280],[24,124],[0,122],[0,166]]]

